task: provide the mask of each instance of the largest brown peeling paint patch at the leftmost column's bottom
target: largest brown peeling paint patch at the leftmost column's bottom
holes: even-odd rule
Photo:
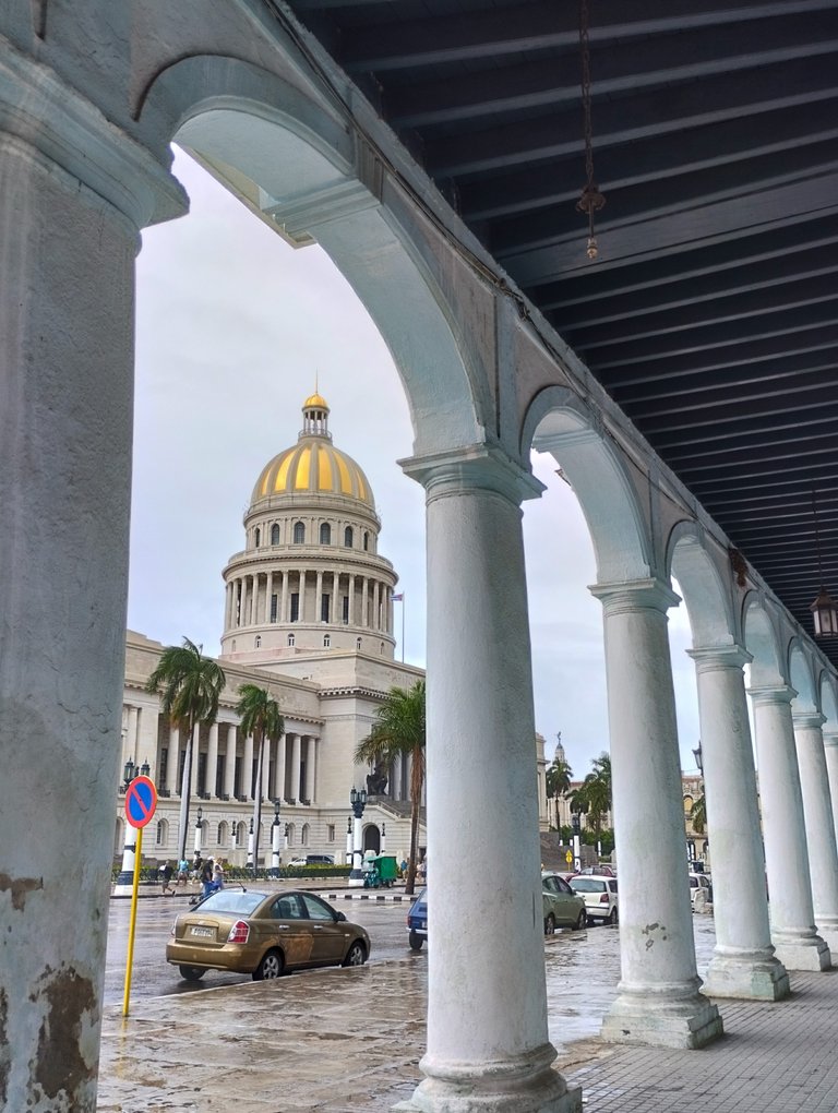
[[[95,1113],[96,1046],[99,1008],[93,984],[73,967],[43,973],[41,985],[30,995],[33,1003],[45,1006],[38,1037],[38,1055],[30,1063],[30,1083],[34,1107],[41,1099],[50,1110],[72,1113]],[[90,1041],[91,1058],[87,1061],[82,1045],[92,1026],[97,1040]]]

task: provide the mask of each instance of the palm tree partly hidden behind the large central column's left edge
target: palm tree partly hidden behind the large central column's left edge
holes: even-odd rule
[[[404,890],[413,893],[416,880],[416,844],[422,789],[425,784],[425,681],[413,688],[391,688],[375,712],[376,721],[366,738],[355,748],[355,761],[375,766],[391,765],[396,757],[410,756],[411,768],[411,854]]]

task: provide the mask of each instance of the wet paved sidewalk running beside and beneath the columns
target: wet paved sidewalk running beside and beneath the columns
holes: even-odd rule
[[[411,955],[146,998],[128,1020],[110,1007],[98,1113],[385,1113],[422,1077],[426,969]],[[832,1113],[838,971],[792,987],[776,1004],[720,1001],[726,1035],[700,1052],[562,1045],[553,1003],[556,1065],[597,1113]]]

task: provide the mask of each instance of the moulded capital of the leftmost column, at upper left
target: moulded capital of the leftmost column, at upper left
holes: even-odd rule
[[[135,228],[189,208],[183,186],[148,148],[8,40],[0,52],[0,131],[83,183]]]

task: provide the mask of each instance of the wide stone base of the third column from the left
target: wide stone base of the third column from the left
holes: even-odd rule
[[[605,1043],[694,1051],[723,1033],[719,1009],[703,994],[667,999],[650,991],[619,994],[602,1022],[600,1035]]]

